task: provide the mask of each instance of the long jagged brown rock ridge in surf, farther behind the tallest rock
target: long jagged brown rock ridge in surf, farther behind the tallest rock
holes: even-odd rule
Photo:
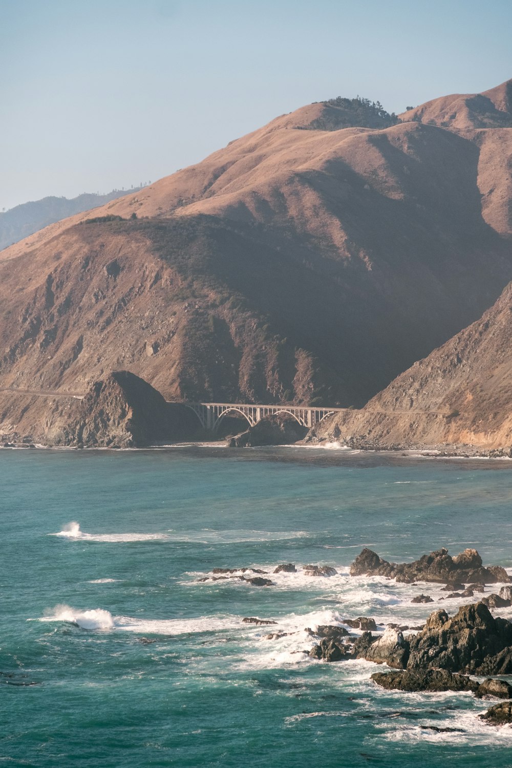
[[[444,547],[431,554],[424,554],[412,563],[389,563],[379,558],[371,549],[363,549],[350,567],[352,576],[384,576],[396,581],[412,584],[414,581],[434,581],[451,584],[495,584],[510,581],[507,571],[500,566],[482,567],[481,557],[476,549],[464,549],[452,558]]]

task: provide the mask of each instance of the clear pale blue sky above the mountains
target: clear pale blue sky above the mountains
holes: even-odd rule
[[[155,181],[303,104],[512,78],[510,0],[0,0],[0,210]]]

